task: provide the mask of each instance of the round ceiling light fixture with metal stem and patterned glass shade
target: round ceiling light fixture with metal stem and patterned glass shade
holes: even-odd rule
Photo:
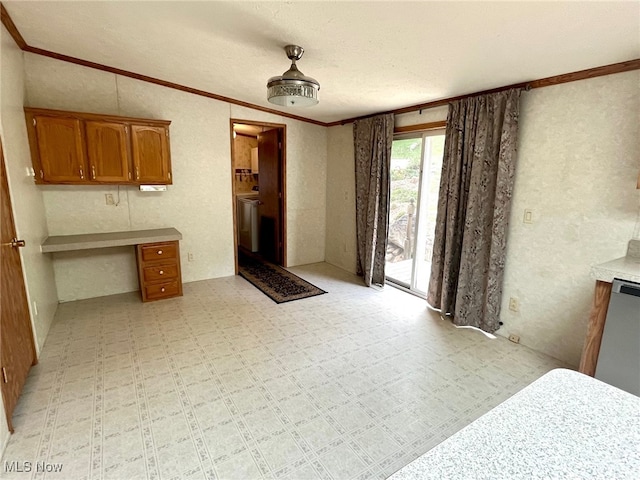
[[[291,67],[278,77],[267,82],[267,99],[283,107],[309,107],[318,103],[320,84],[317,80],[304,75],[296,66],[296,60],[302,58],[304,48],[298,45],[284,47]]]

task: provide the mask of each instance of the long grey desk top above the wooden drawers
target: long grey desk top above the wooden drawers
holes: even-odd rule
[[[41,248],[43,253],[69,252],[176,240],[182,240],[182,234],[175,228],[156,228],[151,230],[129,230],[126,232],[54,235],[47,237]]]

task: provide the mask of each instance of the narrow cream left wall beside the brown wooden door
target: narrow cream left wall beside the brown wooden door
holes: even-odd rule
[[[42,193],[27,176],[31,166],[24,121],[23,53],[4,27],[0,48],[0,132],[16,233],[25,240],[20,249],[34,337],[38,353],[47,337],[58,305],[51,259],[40,253],[47,236]],[[37,304],[36,314],[34,304]],[[0,405],[0,456],[9,439],[4,405]]]

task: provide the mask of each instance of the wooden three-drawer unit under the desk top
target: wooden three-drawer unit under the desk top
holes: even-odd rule
[[[136,261],[143,302],[182,295],[177,241],[137,245]]]

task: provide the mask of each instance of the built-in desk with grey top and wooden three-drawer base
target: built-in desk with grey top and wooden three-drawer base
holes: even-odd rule
[[[41,245],[43,253],[135,246],[142,301],[182,295],[180,247],[182,234],[175,228],[126,232],[55,235]]]

